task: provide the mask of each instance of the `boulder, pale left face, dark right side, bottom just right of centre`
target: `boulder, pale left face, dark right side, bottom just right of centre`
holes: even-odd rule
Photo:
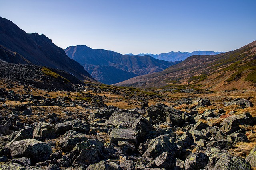
[[[155,164],[159,168],[170,169],[175,165],[174,154],[169,152],[163,152],[154,160]]]

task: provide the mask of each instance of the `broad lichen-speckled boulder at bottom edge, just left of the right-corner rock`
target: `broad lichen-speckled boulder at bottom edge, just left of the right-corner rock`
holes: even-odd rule
[[[206,170],[212,169],[223,169],[223,170],[250,170],[250,164],[241,157],[233,157],[226,150],[220,148],[210,148],[206,149],[205,154],[208,156],[209,161]]]

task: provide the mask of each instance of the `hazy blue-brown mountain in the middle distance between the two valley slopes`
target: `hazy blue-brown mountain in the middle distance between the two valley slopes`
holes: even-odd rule
[[[114,84],[129,78],[162,71],[179,62],[158,60],[150,56],[122,55],[114,51],[91,49],[86,45],[70,46],[66,54],[105,84]]]

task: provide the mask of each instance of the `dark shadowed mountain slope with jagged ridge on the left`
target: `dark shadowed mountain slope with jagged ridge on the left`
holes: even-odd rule
[[[65,51],[45,35],[28,34],[0,17],[0,59],[16,64],[35,64],[65,70],[80,80],[97,82]]]

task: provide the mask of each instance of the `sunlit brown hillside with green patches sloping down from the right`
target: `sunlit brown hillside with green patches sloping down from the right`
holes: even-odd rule
[[[117,86],[191,86],[207,90],[256,87],[256,41],[218,55],[193,55],[164,71],[138,76]]]

